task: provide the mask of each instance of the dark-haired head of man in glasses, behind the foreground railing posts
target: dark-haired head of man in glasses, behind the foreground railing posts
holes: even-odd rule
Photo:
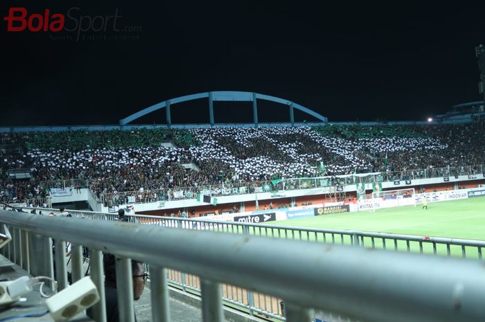
[[[116,288],[116,260],[112,254],[105,253],[103,256],[103,266],[105,269],[105,285]],[[133,276],[133,299],[139,300],[143,289],[145,289],[145,268],[143,263],[132,260]]]

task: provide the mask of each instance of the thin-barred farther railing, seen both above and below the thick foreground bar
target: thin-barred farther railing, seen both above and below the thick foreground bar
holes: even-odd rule
[[[52,209],[56,215],[58,210]],[[89,211],[69,211],[74,217],[91,220],[116,221],[114,213],[94,213]],[[407,253],[427,253],[448,257],[478,258],[482,260],[485,241],[457,238],[439,238],[391,233],[372,233],[337,229],[309,229],[270,224],[249,224],[241,222],[221,222],[206,219],[186,219],[148,215],[126,215],[130,222],[149,226],[164,226],[176,229],[202,230],[232,234],[256,235],[265,238],[281,238],[304,242],[326,244],[347,244],[368,249],[391,249]],[[200,281],[196,276],[179,271],[168,271],[168,281],[184,292],[200,293]],[[224,286],[224,301],[237,305],[253,314],[261,313],[274,319],[282,319],[279,298],[250,292],[247,289]],[[328,321],[334,321],[332,317]],[[337,320],[338,321],[338,320]]]

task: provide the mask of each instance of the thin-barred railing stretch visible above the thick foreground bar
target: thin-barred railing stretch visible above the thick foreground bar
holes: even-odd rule
[[[29,208],[42,210],[43,213],[53,212],[58,215],[58,209]],[[97,213],[93,211],[69,211],[73,217],[89,220],[118,220],[117,213]],[[468,240],[462,238],[444,238],[433,236],[405,235],[395,233],[375,233],[370,231],[352,231],[345,229],[315,229],[276,224],[251,224],[246,222],[222,222],[218,220],[161,217],[150,215],[130,215],[129,222],[164,226],[168,228],[214,231],[233,234],[256,235],[269,238],[300,240],[305,242],[321,242],[328,244],[349,244],[371,249],[388,249],[408,253],[429,253],[441,256],[477,258],[482,260],[485,251],[485,240]]]

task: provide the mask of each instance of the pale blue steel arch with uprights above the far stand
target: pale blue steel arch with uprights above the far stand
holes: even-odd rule
[[[141,116],[145,116],[146,114],[152,113],[152,111],[157,111],[158,109],[165,108],[166,111],[166,118],[167,124],[172,124],[172,119],[170,116],[170,108],[172,105],[177,104],[179,102],[186,102],[188,100],[197,100],[200,98],[209,98],[209,120],[210,124],[214,124],[214,109],[213,109],[213,102],[214,101],[232,101],[232,102],[253,102],[253,120],[254,125],[258,126],[258,103],[257,100],[269,100],[271,102],[277,102],[282,105],[287,105],[290,109],[290,123],[294,123],[294,109],[298,109],[299,111],[303,111],[304,113],[321,120],[321,122],[327,123],[328,118],[318,114],[316,111],[312,111],[308,109],[308,107],[304,107],[299,105],[291,100],[285,100],[284,98],[278,98],[275,96],[254,93],[249,91],[207,91],[204,93],[196,93],[186,96],[180,96],[177,98],[170,98],[169,100],[165,100],[164,102],[159,102],[155,105],[147,107],[145,109],[141,109],[141,111],[137,111],[136,113],[127,116],[126,118],[122,118],[119,123],[120,125],[127,125],[127,123],[140,118]]]

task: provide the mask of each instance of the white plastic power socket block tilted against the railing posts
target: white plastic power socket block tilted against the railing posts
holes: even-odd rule
[[[99,301],[98,289],[89,276],[81,278],[46,300],[49,313],[55,322],[62,322],[76,316]]]

